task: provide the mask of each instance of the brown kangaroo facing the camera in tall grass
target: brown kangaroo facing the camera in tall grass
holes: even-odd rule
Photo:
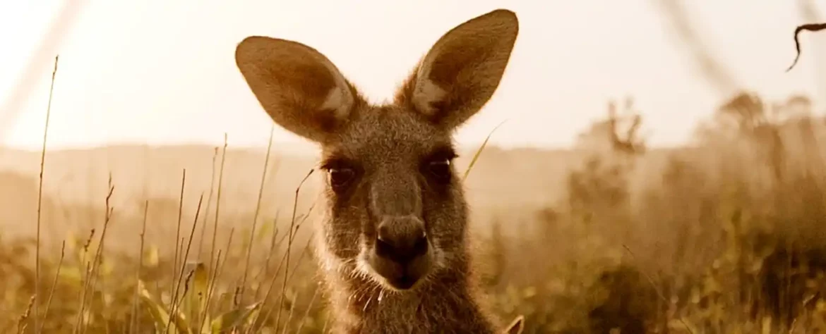
[[[456,26],[382,105],[307,45],[249,36],[236,46],[263,110],[320,146],[315,253],[335,332],[501,332],[472,280],[453,132],[496,91],[518,31],[504,9]],[[521,318],[506,328],[521,330]]]

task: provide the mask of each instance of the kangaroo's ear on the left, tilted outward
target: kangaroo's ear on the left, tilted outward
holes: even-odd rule
[[[335,133],[360,101],[330,59],[291,40],[247,37],[235,48],[235,64],[275,123],[316,142]]]

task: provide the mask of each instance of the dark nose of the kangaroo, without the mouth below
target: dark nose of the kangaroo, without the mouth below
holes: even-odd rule
[[[425,223],[415,216],[382,219],[377,232],[378,256],[406,264],[427,252]]]

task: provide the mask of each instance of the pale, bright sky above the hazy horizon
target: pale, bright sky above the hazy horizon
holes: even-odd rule
[[[230,145],[263,146],[272,122],[233,59],[245,36],[310,45],[378,102],[392,97],[440,35],[499,7],[516,12],[520,35],[496,95],[459,130],[459,143],[479,143],[507,120],[493,143],[567,146],[605,115],[608,99],[631,95],[646,117],[649,142],[670,146],[689,139],[725,94],[696,70],[657,0],[73,0],[77,15],[44,42],[67,1],[0,3],[3,145],[40,147],[55,53],[50,148],[216,144],[224,133]],[[795,54],[792,31],[805,22],[795,1],[684,2],[705,41],[748,89],[776,99],[817,92],[814,56],[806,51],[826,45],[826,33],[805,34],[800,63],[784,72]],[[819,5],[826,12],[826,3]],[[30,94],[10,109],[12,92],[20,92],[12,88],[25,81],[32,61]],[[278,128],[275,140],[307,145]]]

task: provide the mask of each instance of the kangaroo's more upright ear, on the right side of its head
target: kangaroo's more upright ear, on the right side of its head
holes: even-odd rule
[[[462,125],[491,99],[505,73],[519,21],[499,9],[453,28],[422,59],[396,95],[439,126]]]

